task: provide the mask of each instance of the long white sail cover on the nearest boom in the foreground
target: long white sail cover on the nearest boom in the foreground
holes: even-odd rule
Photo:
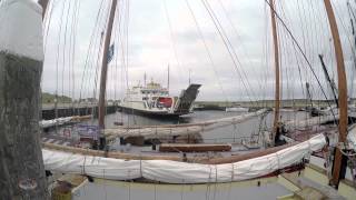
[[[121,160],[59,152],[43,149],[46,170],[88,174],[111,180],[146,178],[166,183],[231,182],[258,178],[301,161],[323,149],[325,137],[318,134],[305,142],[271,154],[225,164],[200,164],[169,160]]]

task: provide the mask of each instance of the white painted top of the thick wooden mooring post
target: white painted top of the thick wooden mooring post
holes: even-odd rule
[[[0,2],[0,52],[43,60],[42,8],[32,0]]]

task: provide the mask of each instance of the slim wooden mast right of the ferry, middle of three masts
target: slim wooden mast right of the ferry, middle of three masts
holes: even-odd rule
[[[275,88],[275,119],[274,119],[274,130],[273,130],[273,143],[275,142],[275,137],[277,132],[278,121],[279,121],[279,106],[280,106],[280,93],[279,93],[279,50],[278,50],[278,36],[277,36],[277,24],[275,14],[275,1],[269,0],[270,4],[270,19],[271,19],[271,31],[274,39],[274,54],[275,54],[275,74],[276,74],[276,88]]]

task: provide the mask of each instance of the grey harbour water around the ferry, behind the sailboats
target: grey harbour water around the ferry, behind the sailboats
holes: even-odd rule
[[[227,118],[233,116],[244,114],[246,112],[225,112],[225,111],[195,111],[191,114],[182,116],[179,119],[156,119],[144,116],[136,116],[125,112],[116,112],[106,116],[106,128],[115,128],[115,122],[122,122],[123,126],[156,126],[156,124],[177,124],[177,123],[191,123],[191,122],[202,122],[212,119]],[[295,119],[306,119],[307,113],[303,111],[281,111],[281,120],[295,120]],[[240,142],[241,139],[250,137],[253,133],[258,133],[261,129],[270,129],[274,120],[274,113],[269,112],[265,117],[255,117],[250,120],[238,124],[231,124],[210,131],[204,131],[201,138],[205,143],[226,143],[226,142]],[[92,119],[82,122],[81,124],[97,126],[98,120]],[[62,136],[68,129],[72,132],[76,126],[60,127],[57,130],[57,134]],[[51,130],[51,133],[56,133],[56,130]],[[72,137],[77,137],[76,133]]]

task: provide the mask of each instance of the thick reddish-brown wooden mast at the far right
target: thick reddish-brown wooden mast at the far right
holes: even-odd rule
[[[326,13],[328,17],[333,41],[334,41],[334,49],[336,56],[336,64],[337,64],[337,79],[338,79],[338,104],[339,104],[339,126],[338,126],[338,142],[346,141],[347,134],[347,83],[346,83],[346,72],[344,66],[344,56],[342,49],[342,42],[339,38],[339,33],[337,30],[337,23],[335,20],[335,14],[333,11],[333,7],[330,0],[324,0]],[[342,171],[342,160],[343,154],[338,148],[336,148],[335,159],[333,164],[333,180],[332,183],[334,186],[338,186],[340,178],[343,178]],[[344,172],[343,172],[344,173]]]

